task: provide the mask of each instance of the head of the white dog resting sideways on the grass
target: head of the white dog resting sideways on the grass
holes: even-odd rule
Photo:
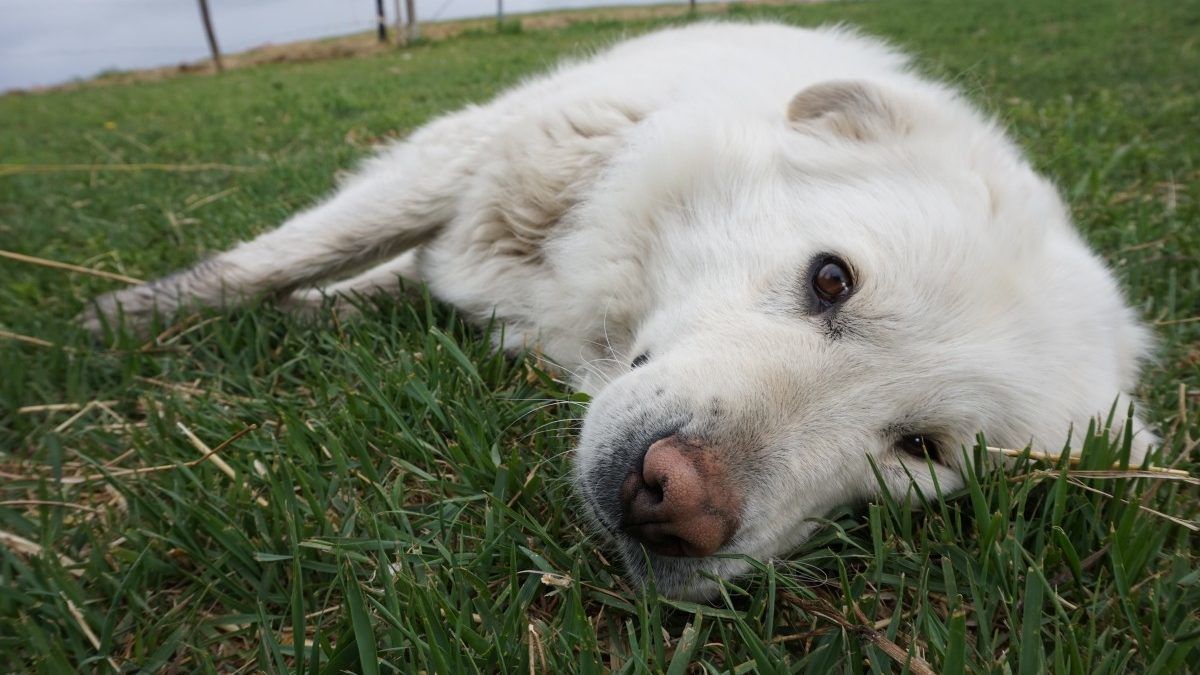
[[[1147,335],[1054,187],[950,94],[827,83],[774,120],[652,120],[635,148],[590,214],[624,235],[588,249],[622,261],[588,283],[628,360],[583,378],[575,464],[634,579],[710,595],[704,573],[746,571],[719,554],[787,554],[876,470],[953,490],[978,432],[1057,452],[1128,405]]]

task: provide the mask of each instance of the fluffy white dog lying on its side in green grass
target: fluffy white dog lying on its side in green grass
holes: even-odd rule
[[[995,123],[875,40],[767,24],[655,32],[436,119],[84,321],[397,277],[594,395],[578,492],[630,575],[676,596],[748,569],[716,554],[785,555],[876,495],[872,462],[902,495],[961,485],[980,431],[1057,452],[1123,414],[1148,346]]]

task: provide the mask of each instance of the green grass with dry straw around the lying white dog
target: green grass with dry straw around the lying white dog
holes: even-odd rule
[[[1200,473],[1200,6],[728,13],[852,22],[996,112],[1156,325],[1158,460]],[[660,24],[2,97],[0,249],[166,273],[311,203],[370,142]],[[450,309],[380,300],[313,329],[260,307],[97,348],[70,317],[116,283],[0,261],[0,329],[49,344],[0,339],[5,670],[1200,670],[1200,497],[1086,473],[1127,440],[924,510],[839,510],[695,605],[630,592],[581,530],[582,401]]]

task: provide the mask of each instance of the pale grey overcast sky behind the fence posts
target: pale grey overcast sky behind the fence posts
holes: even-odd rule
[[[496,0],[415,0],[420,19],[488,16]],[[646,0],[504,0],[508,13]],[[209,0],[222,52],[374,26],[374,0]],[[391,22],[394,0],[384,0]],[[0,0],[0,91],[208,56],[197,0]]]

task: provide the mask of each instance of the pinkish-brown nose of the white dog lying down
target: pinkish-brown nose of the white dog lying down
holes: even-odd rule
[[[620,488],[622,528],[659,555],[703,557],[738,528],[742,495],[720,456],[668,436]]]

